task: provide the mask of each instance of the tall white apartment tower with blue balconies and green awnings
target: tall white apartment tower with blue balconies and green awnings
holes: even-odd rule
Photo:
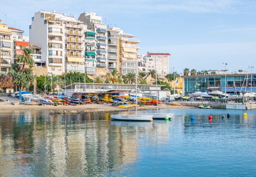
[[[81,13],[78,20],[84,22],[87,25],[87,29],[91,31],[87,31],[86,35],[93,39],[93,35],[95,36],[95,55],[96,60],[95,62],[87,62],[88,64],[85,65],[87,74],[96,74],[96,75],[105,75],[107,70],[107,29],[106,25],[102,23],[102,17],[96,15],[96,13]],[[85,41],[88,38],[85,37]],[[91,47],[87,47],[88,50]],[[93,49],[94,50],[94,49]],[[93,52],[93,51],[88,51]],[[87,53],[90,59],[93,59],[93,53]],[[88,59],[87,59],[88,60]],[[95,68],[96,64],[96,68]]]

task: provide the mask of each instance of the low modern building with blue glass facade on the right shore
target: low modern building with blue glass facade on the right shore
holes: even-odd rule
[[[183,93],[185,95],[196,91],[205,91],[207,89],[217,89],[227,92],[252,91],[256,92],[256,74],[217,74],[217,75],[200,75],[200,76],[182,76]],[[251,85],[252,83],[252,85]],[[251,88],[252,86],[252,88]]]

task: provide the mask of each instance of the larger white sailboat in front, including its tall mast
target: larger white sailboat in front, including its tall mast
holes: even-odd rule
[[[136,56],[136,94],[135,94],[135,100],[136,100],[136,114],[115,114],[111,115],[110,117],[114,120],[125,120],[125,121],[152,121],[152,114],[137,114],[137,56]]]

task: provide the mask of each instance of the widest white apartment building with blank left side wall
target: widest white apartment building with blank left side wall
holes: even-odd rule
[[[48,74],[84,72],[84,31],[87,27],[74,15],[53,11],[35,12],[29,26],[30,44],[41,48]]]

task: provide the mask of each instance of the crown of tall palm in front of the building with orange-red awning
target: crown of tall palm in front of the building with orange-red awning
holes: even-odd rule
[[[22,48],[22,55],[16,55],[16,60],[19,63],[22,63],[22,70],[24,70],[24,66],[27,64],[30,68],[34,65],[34,60],[31,58],[31,54],[34,53],[32,48],[23,47]]]

